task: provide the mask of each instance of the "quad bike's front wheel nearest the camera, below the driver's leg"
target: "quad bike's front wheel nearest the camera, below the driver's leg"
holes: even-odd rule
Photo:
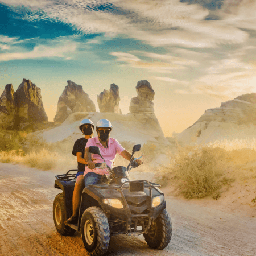
[[[99,207],[89,207],[82,214],[81,236],[90,256],[100,256],[108,250],[110,241],[108,218]]]

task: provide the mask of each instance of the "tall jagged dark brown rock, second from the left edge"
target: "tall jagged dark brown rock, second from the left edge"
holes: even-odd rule
[[[15,92],[19,127],[35,122],[47,122],[41,89],[30,80],[23,79]]]

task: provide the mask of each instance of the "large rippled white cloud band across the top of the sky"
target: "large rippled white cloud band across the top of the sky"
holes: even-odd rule
[[[222,20],[205,20],[208,9],[179,0],[4,1],[8,5],[38,7],[24,16],[28,20],[56,20],[87,34],[123,34],[154,47],[216,48],[220,44],[245,42],[249,36],[225,15]],[[113,8],[107,8],[109,5]],[[239,19],[241,15],[238,13],[236,17]]]

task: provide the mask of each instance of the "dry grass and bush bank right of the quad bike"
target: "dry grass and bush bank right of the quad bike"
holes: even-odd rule
[[[178,147],[168,153],[170,164],[159,167],[158,180],[175,194],[187,198],[211,195],[217,200],[236,181],[255,184],[256,139],[222,140],[197,146]]]

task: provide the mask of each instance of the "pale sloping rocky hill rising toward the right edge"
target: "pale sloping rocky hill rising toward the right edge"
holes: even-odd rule
[[[256,132],[256,93],[244,94],[207,109],[190,127],[178,135],[185,143],[216,139],[253,138]]]

